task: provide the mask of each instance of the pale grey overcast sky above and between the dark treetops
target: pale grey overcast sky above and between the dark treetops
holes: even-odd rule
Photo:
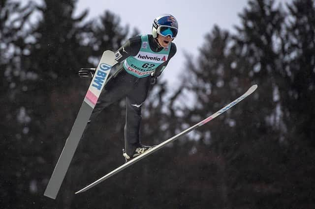
[[[233,31],[233,25],[240,25],[238,14],[247,2],[248,0],[78,0],[75,14],[88,8],[90,19],[103,14],[104,10],[110,10],[121,18],[123,26],[136,27],[142,34],[151,34],[153,20],[160,14],[175,16],[179,24],[179,34],[174,40],[177,54],[162,76],[170,85],[175,85],[178,75],[185,73],[183,52],[196,57],[198,48],[204,43],[204,35],[215,24]]]

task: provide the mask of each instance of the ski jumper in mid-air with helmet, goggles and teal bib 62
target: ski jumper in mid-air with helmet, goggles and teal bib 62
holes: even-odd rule
[[[117,73],[108,79],[95,105],[90,122],[108,105],[126,98],[125,150],[126,161],[143,154],[153,146],[140,142],[141,106],[148,90],[176,53],[172,42],[178,33],[178,23],[172,15],[157,17],[152,34],[138,35],[126,41],[115,52],[116,60],[124,62]],[[95,71],[79,71],[81,78],[93,77]]]

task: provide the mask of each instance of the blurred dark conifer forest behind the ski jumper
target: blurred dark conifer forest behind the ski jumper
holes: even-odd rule
[[[87,20],[88,11],[73,17],[76,0],[43,2],[0,0],[1,209],[315,208],[314,0],[249,0],[235,32],[209,28],[198,57],[187,54],[180,85],[158,80],[150,92],[142,143],[158,144],[258,89],[75,195],[124,162],[125,101],[111,105],[81,139],[56,200],[43,193],[89,86],[78,70],[141,31],[115,11]],[[34,12],[41,18],[31,21]]]

